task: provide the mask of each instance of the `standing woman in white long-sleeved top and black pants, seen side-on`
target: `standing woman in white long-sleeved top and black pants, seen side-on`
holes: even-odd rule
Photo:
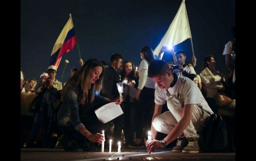
[[[151,118],[154,113],[155,83],[148,77],[148,66],[153,60],[156,60],[156,57],[154,51],[149,46],[142,47],[140,55],[142,61],[138,69],[139,84],[138,91],[135,96],[135,99],[139,101],[136,122],[140,123],[138,123],[136,127],[136,142],[130,144],[130,148],[140,148],[144,146],[142,139],[146,136],[146,132],[145,134],[142,134],[143,127],[145,129],[150,129]]]

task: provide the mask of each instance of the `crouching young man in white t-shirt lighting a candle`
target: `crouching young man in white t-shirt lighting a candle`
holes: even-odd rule
[[[155,91],[155,111],[152,118],[152,141],[146,141],[148,152],[165,148],[177,138],[174,152],[198,153],[199,135],[202,126],[213,114],[197,85],[188,77],[172,73],[163,60],[154,60],[148,68],[148,76],[157,83]],[[170,111],[161,114],[167,102]],[[156,140],[157,132],[168,134]]]

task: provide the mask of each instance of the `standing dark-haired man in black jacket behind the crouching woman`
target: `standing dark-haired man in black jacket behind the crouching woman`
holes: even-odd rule
[[[101,95],[104,97],[107,97],[109,99],[117,99],[120,97],[117,85],[116,83],[121,82],[121,75],[119,72],[119,68],[122,65],[123,61],[123,56],[118,53],[114,53],[110,57],[110,65],[104,66],[104,79],[103,79],[103,84],[102,84],[102,90],[101,90]],[[122,110],[124,110],[123,105],[121,104]],[[120,115],[119,117],[115,118],[112,121],[107,122],[107,126],[111,123],[114,124],[114,133],[112,139],[117,139],[121,140],[121,133],[123,129],[123,120],[124,116]],[[106,133],[110,134],[110,128],[106,129]],[[106,139],[107,134],[106,134]]]

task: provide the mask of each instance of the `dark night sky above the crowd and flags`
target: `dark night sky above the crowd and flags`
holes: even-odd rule
[[[25,79],[47,71],[55,41],[72,14],[74,31],[81,58],[97,58],[110,62],[113,53],[120,53],[135,66],[141,62],[140,49],[159,44],[182,0],[22,0],[21,1],[21,69]],[[214,55],[216,69],[228,74],[224,45],[232,39],[235,25],[235,0],[186,0],[194,53],[195,69],[201,72],[203,57]],[[191,61],[190,40],[175,50],[183,49]],[[165,55],[168,56],[168,55]],[[78,49],[62,57],[56,78],[61,80],[64,60],[68,59],[63,83],[72,67],[80,67]]]

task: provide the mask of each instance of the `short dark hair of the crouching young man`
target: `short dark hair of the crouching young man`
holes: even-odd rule
[[[171,69],[164,60],[153,60],[148,67],[148,77],[165,75],[167,71],[171,71]]]

